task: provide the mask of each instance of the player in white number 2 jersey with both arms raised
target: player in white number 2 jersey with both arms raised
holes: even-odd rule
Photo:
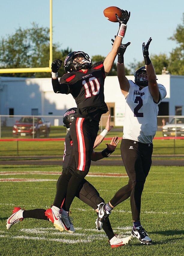
[[[104,210],[104,216],[107,217],[116,205],[130,197],[133,219],[131,235],[143,244],[151,244],[152,240],[140,223],[141,195],[152,163],[152,140],[157,131],[158,104],[166,96],[165,87],[156,81],[155,69],[149,58],[148,49],[151,41],[150,37],[146,45],[142,44],[145,66],[135,72],[135,83],[125,77],[123,55],[130,42],[121,45],[119,49],[117,76],[126,100],[120,148],[129,181],[101,207],[101,212]]]

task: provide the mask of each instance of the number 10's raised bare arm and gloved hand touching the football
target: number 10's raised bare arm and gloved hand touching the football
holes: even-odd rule
[[[121,24],[127,24],[128,20],[130,18],[130,12],[128,13],[127,10],[125,10],[125,11],[122,10],[122,18],[119,18],[117,16],[117,14],[116,14],[116,17],[117,17],[117,20],[118,20],[120,25]],[[114,40],[113,48],[104,60],[105,77],[108,75],[108,73],[110,72],[110,70],[113,67],[114,60],[115,60],[116,55],[118,53],[121,42],[122,42],[122,37],[116,36],[116,38]]]

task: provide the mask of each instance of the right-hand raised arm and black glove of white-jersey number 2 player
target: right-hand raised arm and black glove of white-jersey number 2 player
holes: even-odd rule
[[[144,56],[144,61],[145,61],[145,66],[146,66],[146,72],[148,75],[148,87],[149,87],[149,92],[152,95],[153,100],[157,103],[160,99],[159,95],[159,90],[158,90],[158,84],[156,81],[156,74],[155,74],[155,69],[153,67],[153,64],[149,58],[149,44],[152,41],[151,37],[149,38],[148,42],[142,44],[142,49],[143,49],[143,56]]]

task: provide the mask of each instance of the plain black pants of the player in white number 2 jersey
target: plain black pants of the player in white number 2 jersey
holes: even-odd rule
[[[132,219],[138,221],[140,220],[141,195],[152,164],[153,144],[122,139],[120,149],[129,181],[116,192],[110,203],[115,207],[130,197]]]

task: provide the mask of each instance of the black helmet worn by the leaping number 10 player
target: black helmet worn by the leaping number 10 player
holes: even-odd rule
[[[78,62],[79,58],[83,58],[82,63]],[[92,65],[89,55],[85,52],[71,52],[64,61],[64,68],[66,73],[70,73],[80,69],[88,69]]]

